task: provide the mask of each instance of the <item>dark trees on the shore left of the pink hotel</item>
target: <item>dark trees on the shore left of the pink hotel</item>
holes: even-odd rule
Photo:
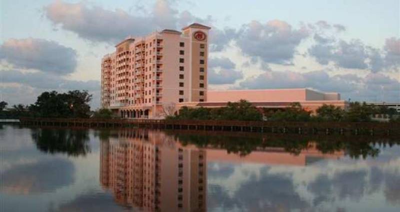
[[[6,102],[0,103],[0,118],[44,117],[44,118],[88,118],[90,115],[89,102],[92,95],[87,91],[56,91],[43,92],[34,104],[13,105],[4,110]]]

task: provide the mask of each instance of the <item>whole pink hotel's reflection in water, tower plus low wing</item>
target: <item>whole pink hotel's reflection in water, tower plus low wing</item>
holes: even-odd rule
[[[159,131],[115,133],[101,139],[100,184],[116,203],[151,212],[206,211],[207,162],[307,166],[344,156],[342,150],[323,154],[312,141],[296,154],[266,146],[243,156],[211,145],[182,146],[178,137]]]

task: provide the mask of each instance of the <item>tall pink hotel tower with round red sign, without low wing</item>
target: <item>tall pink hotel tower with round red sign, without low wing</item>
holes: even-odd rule
[[[101,106],[156,118],[169,104],[206,101],[209,29],[193,23],[116,44],[101,62]]]

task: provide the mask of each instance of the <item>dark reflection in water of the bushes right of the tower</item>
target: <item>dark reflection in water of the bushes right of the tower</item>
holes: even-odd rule
[[[343,138],[343,137],[235,137],[215,135],[178,134],[175,138],[182,145],[193,144],[199,148],[226,149],[228,153],[245,156],[252,151],[262,151],[263,148],[283,148],[285,152],[298,155],[302,150],[315,147],[323,154],[343,151],[350,158],[377,157],[379,147],[400,145],[400,140],[393,139],[367,139],[367,138]]]

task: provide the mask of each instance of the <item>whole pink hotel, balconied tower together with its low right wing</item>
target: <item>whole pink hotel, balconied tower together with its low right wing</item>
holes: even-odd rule
[[[345,106],[337,93],[310,89],[207,90],[209,29],[193,23],[182,31],[164,29],[116,44],[101,61],[101,107],[124,118],[162,118],[165,105],[221,107],[240,99],[257,107]]]

